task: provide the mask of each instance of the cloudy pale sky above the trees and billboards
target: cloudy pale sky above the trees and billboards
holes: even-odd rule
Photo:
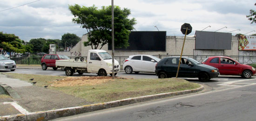
[[[250,9],[256,10],[255,3],[255,0],[114,0],[115,6],[130,9],[129,18],[135,18],[137,23],[135,30],[158,29],[166,31],[167,36],[184,36],[181,32],[184,23],[192,26],[188,36],[205,28],[204,31],[232,31],[233,36],[250,31],[247,35],[256,34],[253,31],[256,24],[250,24],[246,18]],[[68,10],[68,5],[75,4],[101,8],[110,6],[111,0],[1,0],[0,31],[15,34],[26,42],[34,38],[61,39],[65,33],[81,37],[87,31],[72,22],[74,15]]]

